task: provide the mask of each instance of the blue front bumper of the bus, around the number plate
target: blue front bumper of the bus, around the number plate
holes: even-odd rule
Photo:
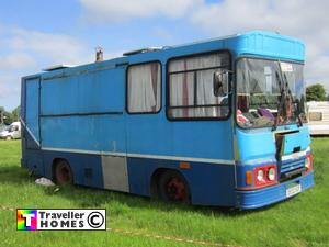
[[[236,206],[243,210],[252,210],[286,200],[288,199],[286,197],[286,189],[291,183],[299,183],[302,186],[302,193],[314,186],[314,171],[299,178],[260,190],[237,190]]]

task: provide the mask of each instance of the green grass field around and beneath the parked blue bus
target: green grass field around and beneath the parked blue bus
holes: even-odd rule
[[[129,194],[34,183],[20,168],[20,142],[0,141],[0,204],[104,207],[107,227],[239,246],[329,246],[329,138],[313,139],[316,187],[258,211],[168,204]],[[115,232],[16,232],[15,212],[0,210],[0,246],[205,246]]]

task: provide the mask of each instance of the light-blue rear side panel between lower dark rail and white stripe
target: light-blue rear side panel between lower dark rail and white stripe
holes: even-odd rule
[[[42,117],[43,147],[126,151],[124,115]]]

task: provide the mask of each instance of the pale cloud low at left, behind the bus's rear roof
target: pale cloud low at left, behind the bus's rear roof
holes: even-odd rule
[[[0,105],[14,109],[21,77],[55,64],[93,61],[93,49],[78,38],[4,26],[0,23]]]

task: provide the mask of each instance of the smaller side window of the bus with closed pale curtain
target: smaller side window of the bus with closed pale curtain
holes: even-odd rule
[[[161,65],[132,65],[127,72],[127,110],[129,113],[156,113],[161,106]]]

